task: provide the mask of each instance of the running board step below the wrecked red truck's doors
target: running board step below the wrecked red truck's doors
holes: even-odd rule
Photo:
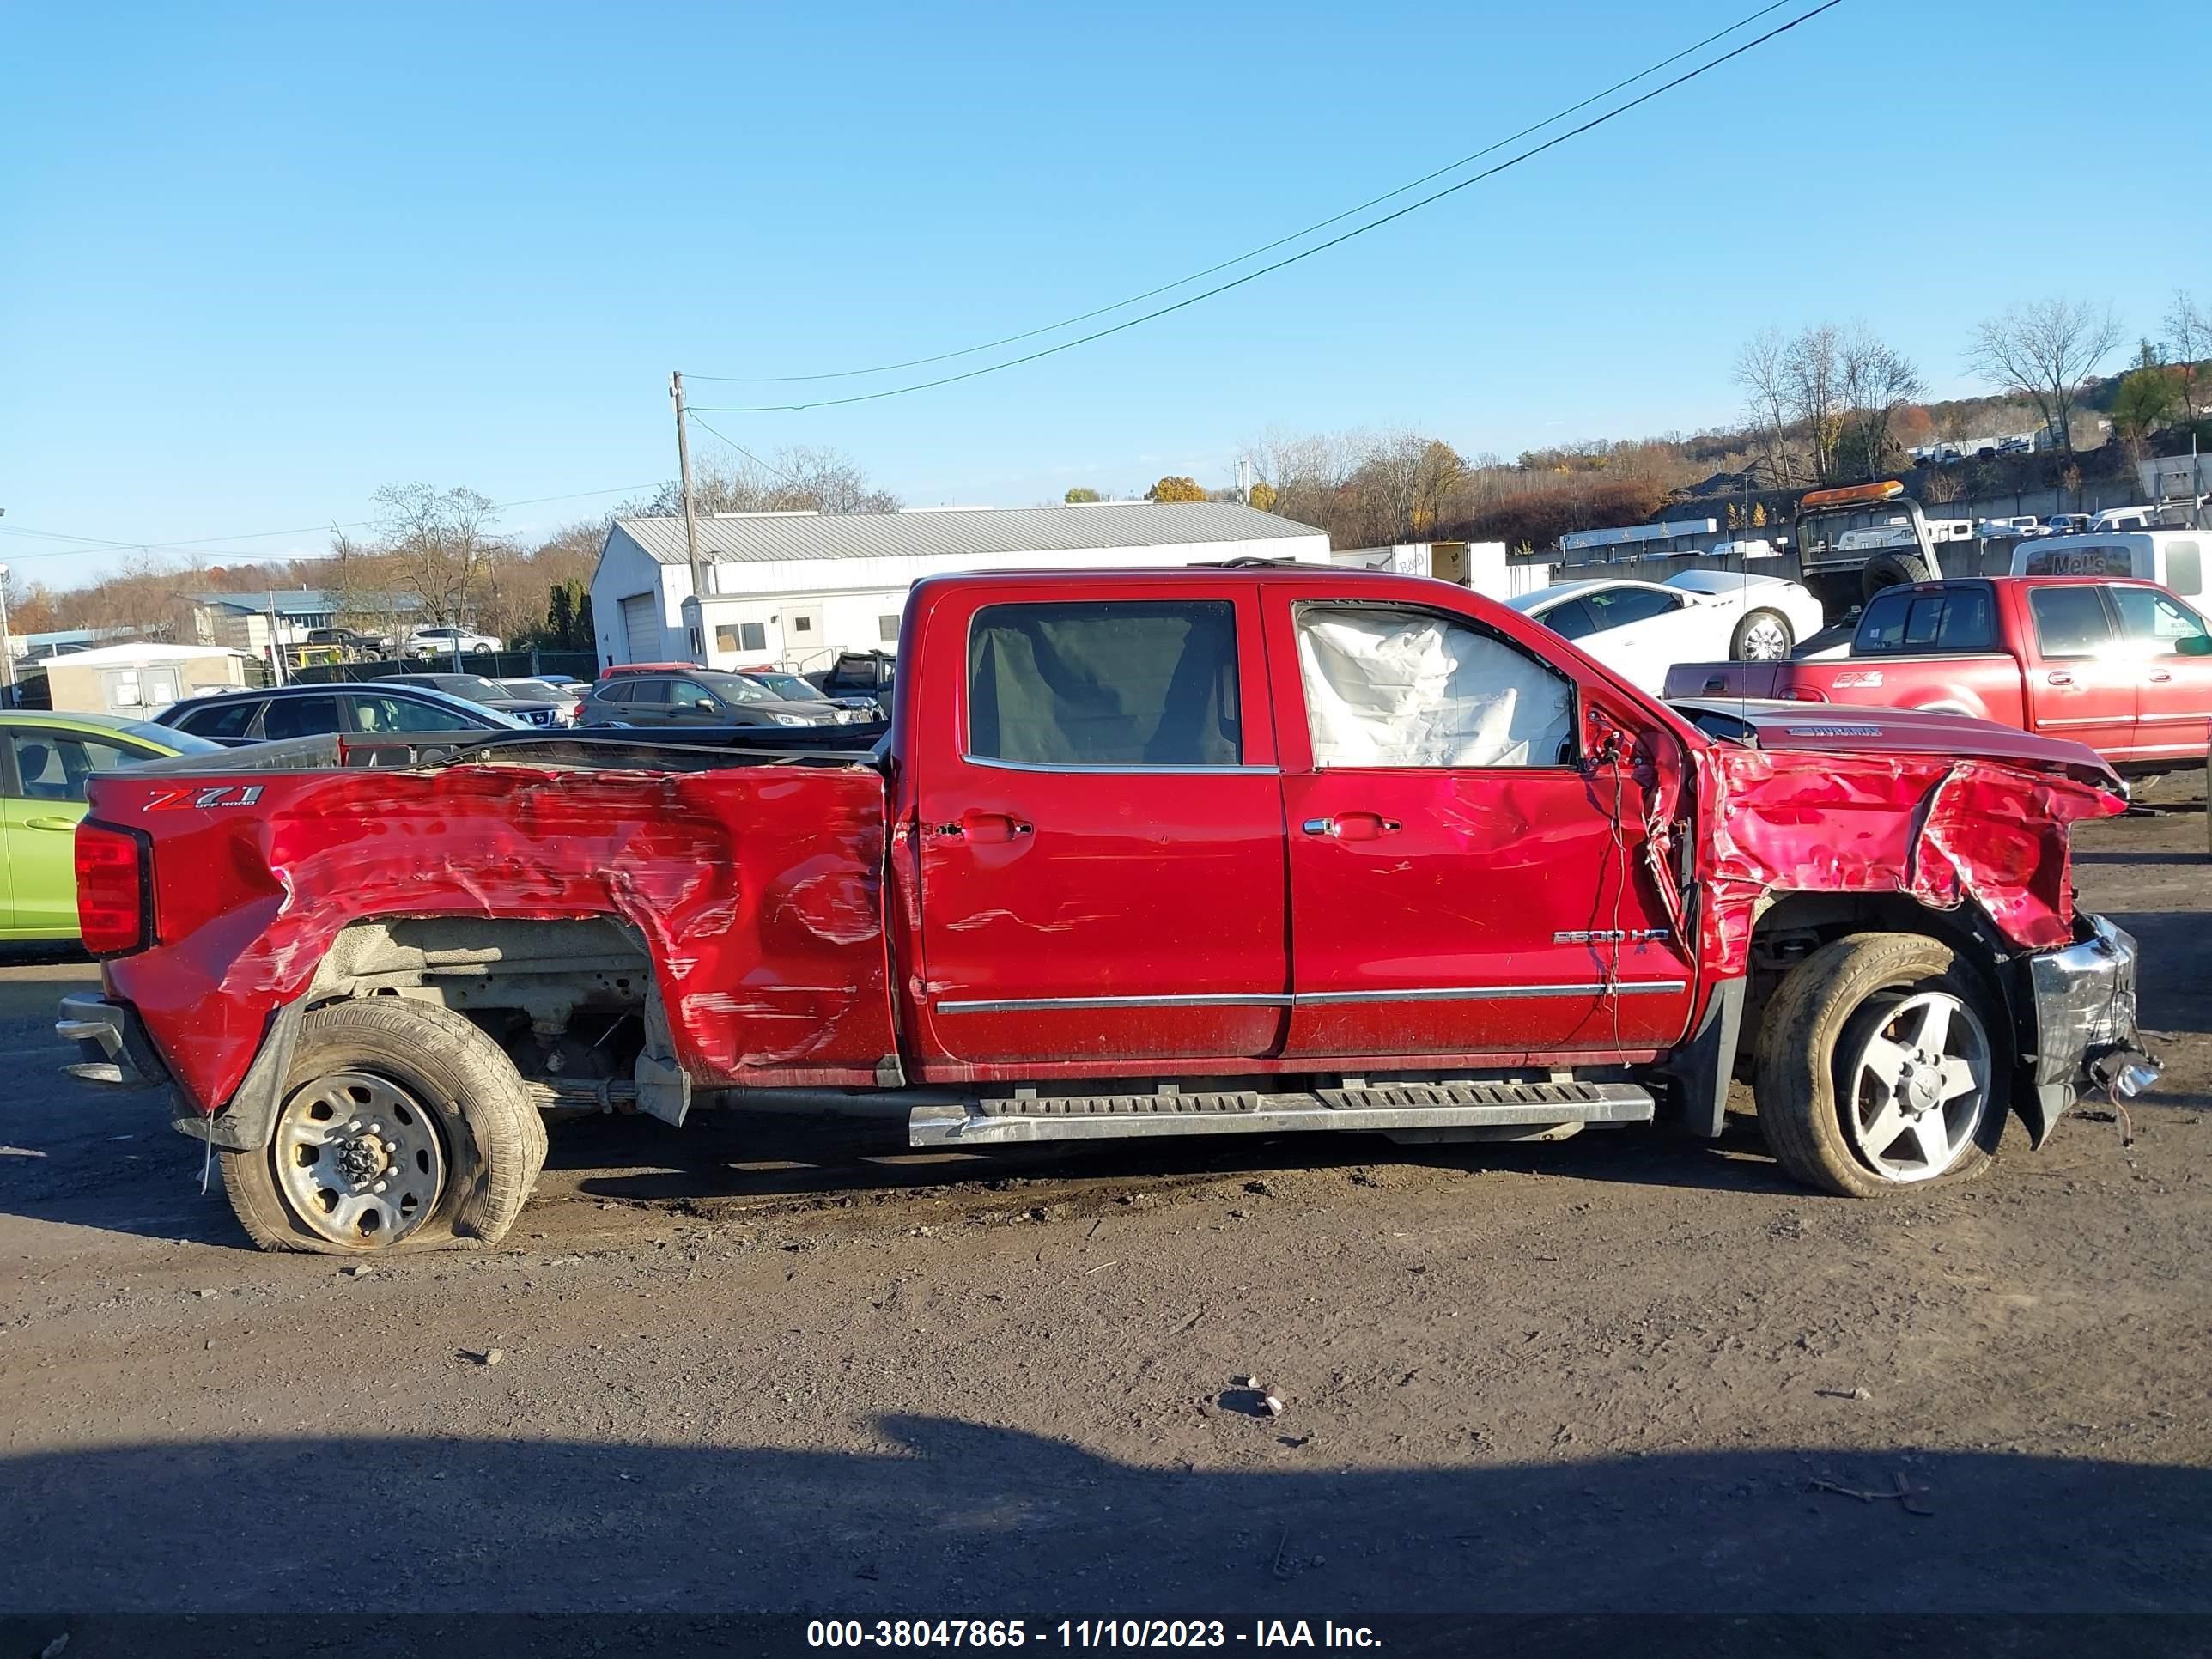
[[[1279,1135],[1298,1128],[1420,1130],[1524,1124],[1646,1124],[1648,1088],[1632,1084],[1376,1084],[1263,1095],[1057,1095],[916,1106],[909,1146],[1106,1141],[1135,1135]]]

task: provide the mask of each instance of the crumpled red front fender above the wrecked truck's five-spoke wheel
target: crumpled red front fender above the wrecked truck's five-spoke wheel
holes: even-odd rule
[[[1896,891],[1978,905],[2017,949],[2073,942],[2068,830],[2126,803],[2062,772],[1944,754],[1703,754],[1701,945],[1743,973],[1756,905],[1790,891]]]

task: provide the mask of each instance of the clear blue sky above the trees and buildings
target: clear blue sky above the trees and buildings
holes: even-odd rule
[[[843,369],[1088,310],[1475,150],[1754,2],[18,0],[0,560],[69,584],[115,555],[24,531],[358,520],[394,480],[502,502],[648,484],[675,471],[670,367]],[[2011,301],[2110,301],[2130,338],[2177,285],[2212,301],[2208,49],[2201,0],[1845,0],[1113,341],[708,420],[754,451],[843,447],[914,504],[1024,504],[1164,471],[1228,482],[1267,427],[1411,425],[1469,453],[1694,429],[1736,411],[1728,365],[1763,323],[1865,316],[1936,392],[1964,392],[1971,325]]]

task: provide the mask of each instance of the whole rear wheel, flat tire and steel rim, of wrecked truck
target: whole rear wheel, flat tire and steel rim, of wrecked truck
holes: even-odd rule
[[[429,1002],[312,1011],[270,1144],[223,1152],[223,1190],[263,1250],[372,1254],[498,1243],[546,1157],[507,1053]]]

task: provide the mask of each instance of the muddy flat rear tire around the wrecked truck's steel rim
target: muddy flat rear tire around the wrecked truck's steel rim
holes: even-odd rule
[[[453,1250],[498,1243],[546,1161],[546,1126],[507,1053],[473,1022],[434,1002],[361,998],[312,1011],[285,1075],[285,1099],[334,1073],[389,1079],[429,1108],[445,1183],[422,1221],[392,1241],[338,1241],[303,1221],[276,1179],[276,1146],[223,1152],[223,1192],[263,1250],[325,1256]]]

